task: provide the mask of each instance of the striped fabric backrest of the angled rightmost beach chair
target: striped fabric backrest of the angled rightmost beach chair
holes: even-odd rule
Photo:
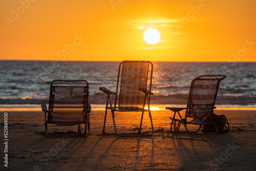
[[[186,117],[210,117],[221,80],[226,75],[202,75],[191,82]]]

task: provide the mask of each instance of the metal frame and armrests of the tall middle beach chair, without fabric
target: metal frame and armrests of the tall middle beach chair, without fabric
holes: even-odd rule
[[[118,109],[117,107],[117,96],[118,96],[118,88],[119,88],[119,79],[120,79],[120,71],[121,71],[121,66],[123,65],[123,63],[125,62],[143,62],[143,63],[148,63],[148,65],[151,65],[151,77],[150,77],[150,86],[149,86],[149,90],[144,89],[144,88],[139,88],[139,91],[144,93],[144,103],[143,103],[143,108],[142,109],[138,109],[138,110],[126,110],[126,109]],[[149,68],[149,66],[148,66]],[[153,135],[154,134],[154,127],[153,127],[153,121],[152,121],[152,115],[151,115],[151,110],[150,110],[150,98],[151,95],[153,95],[153,93],[151,92],[151,88],[152,88],[152,77],[153,77],[153,63],[151,61],[131,61],[131,60],[126,60],[126,61],[122,61],[119,64],[119,69],[118,69],[118,76],[117,76],[117,86],[116,86],[116,93],[106,89],[104,87],[100,87],[99,90],[101,90],[103,93],[105,93],[107,95],[106,97],[106,106],[105,106],[105,116],[104,116],[104,124],[103,124],[103,130],[102,130],[102,135],[111,135],[111,134],[107,134],[105,133],[105,123],[106,123],[106,115],[108,113],[108,110],[111,110],[112,113],[112,119],[113,119],[113,124],[114,124],[114,129],[115,129],[115,133],[118,136],[148,136],[148,135]],[[148,69],[147,69],[147,78],[148,79]],[[121,85],[120,85],[121,86]],[[112,105],[111,102],[111,95],[115,95],[115,103],[114,106]],[[147,110],[144,109],[145,105],[146,105],[146,100],[147,100]],[[110,104],[110,106],[109,106]],[[132,133],[132,134],[120,134],[117,132],[116,129],[116,122],[115,122],[115,114],[114,112],[142,112],[141,114],[141,120],[140,120],[140,128],[139,131],[137,133]],[[152,133],[151,134],[141,134],[141,126],[142,126],[142,120],[143,120],[143,115],[144,112],[148,112],[148,115],[150,117],[151,120],[151,127],[152,127]]]

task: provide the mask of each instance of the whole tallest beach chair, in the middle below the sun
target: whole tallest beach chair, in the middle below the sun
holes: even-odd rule
[[[148,74],[150,72],[150,74]],[[150,78],[148,78],[150,76]],[[119,65],[116,92],[100,87],[106,97],[105,117],[102,134],[105,135],[106,114],[111,110],[115,133],[118,136],[143,136],[141,126],[144,112],[148,112],[151,121],[152,133],[154,128],[150,110],[150,98],[153,76],[153,64],[151,61],[122,61]],[[149,83],[149,85],[147,85]],[[148,89],[147,89],[148,88]],[[114,106],[111,102],[111,95],[115,95]],[[146,104],[147,102],[147,104]],[[110,106],[109,106],[110,104]],[[145,106],[147,108],[145,109]],[[140,127],[137,133],[118,133],[115,123],[115,112],[141,112]],[[121,114],[120,114],[121,115]]]

